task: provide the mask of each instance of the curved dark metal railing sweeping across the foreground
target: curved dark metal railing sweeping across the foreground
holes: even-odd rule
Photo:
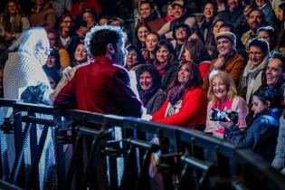
[[[0,107],[0,188],[285,189],[250,149],[201,131],[14,100]]]

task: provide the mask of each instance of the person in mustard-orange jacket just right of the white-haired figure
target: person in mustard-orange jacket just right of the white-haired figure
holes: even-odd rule
[[[60,63],[62,68],[69,66],[71,64],[71,58],[67,50],[63,47],[60,40],[59,34],[54,30],[47,31],[48,39],[50,41],[50,46],[53,49],[57,49],[60,54]]]

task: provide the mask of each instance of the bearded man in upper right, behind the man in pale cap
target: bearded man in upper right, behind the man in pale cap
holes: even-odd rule
[[[246,50],[248,50],[248,43],[250,40],[257,36],[257,29],[265,24],[264,14],[261,10],[253,8],[249,13],[247,21],[251,29],[248,32],[243,33],[241,38],[242,44],[246,47]]]

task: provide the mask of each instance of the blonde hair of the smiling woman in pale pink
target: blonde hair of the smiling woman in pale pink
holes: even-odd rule
[[[237,95],[236,86],[234,84],[234,81],[233,81],[231,75],[225,71],[219,71],[210,80],[210,86],[209,86],[209,90],[208,90],[208,94],[207,94],[208,100],[212,101],[213,103],[215,103],[217,100],[217,98],[214,96],[214,91],[213,91],[213,81],[215,78],[219,78],[221,81],[223,81],[225,83],[226,88],[228,90],[227,98],[230,100],[233,100],[234,96]]]

